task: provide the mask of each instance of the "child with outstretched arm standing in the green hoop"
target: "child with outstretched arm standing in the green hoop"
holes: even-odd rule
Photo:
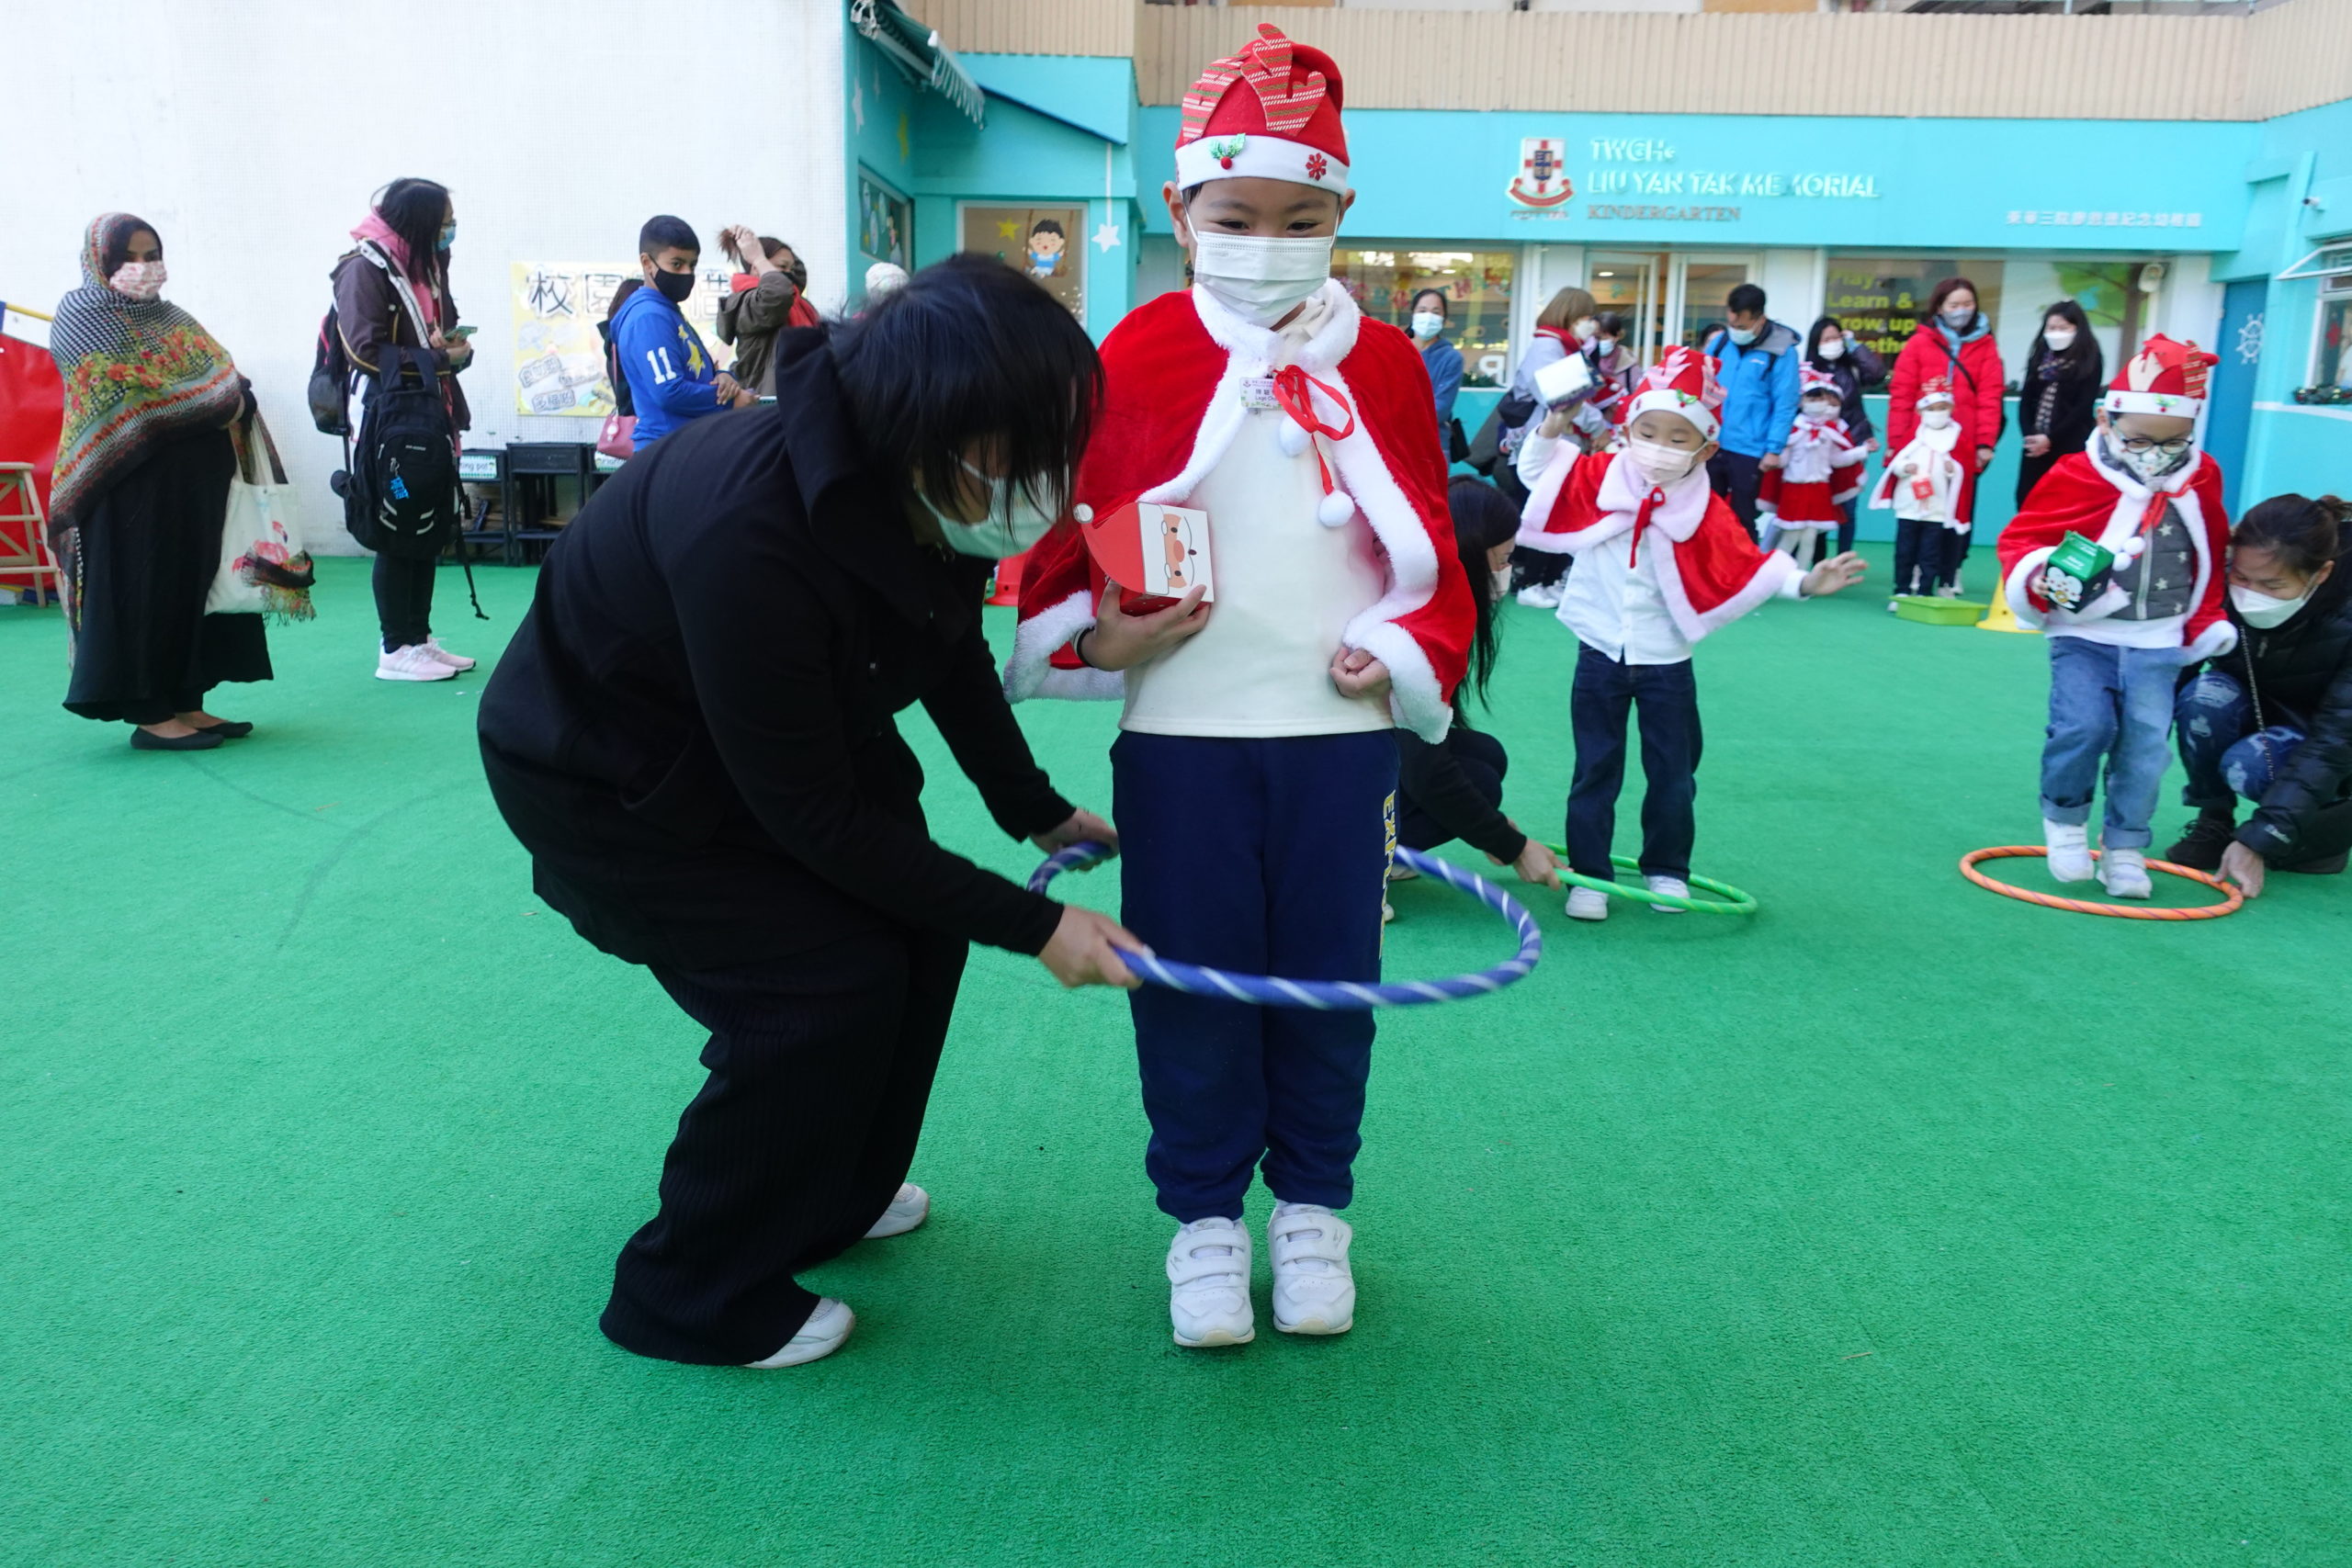
[[[1670,348],[1625,402],[1621,451],[1576,456],[1536,430],[1519,449],[1526,510],[1519,545],[1573,555],[1559,621],[1583,644],[1569,691],[1576,780],[1569,865],[1613,879],[1616,797],[1625,783],[1625,717],[1642,719],[1642,877],[1689,898],[1698,792],[1698,684],[1691,644],[1764,599],[1837,592],[1863,576],[1851,550],[1811,571],[1759,550],[1708,487],[1717,409],[1715,360]],[[1534,451],[1531,451],[1534,447]],[[1653,905],[1665,910],[1668,905]],[[1606,919],[1609,896],[1578,886],[1569,914]]]

